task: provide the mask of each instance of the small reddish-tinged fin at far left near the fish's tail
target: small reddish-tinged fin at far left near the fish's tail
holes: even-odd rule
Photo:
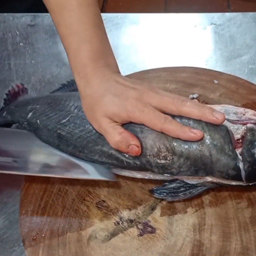
[[[5,93],[2,107],[0,111],[12,104],[12,102],[18,100],[21,96],[28,94],[28,88],[22,84],[15,84]]]

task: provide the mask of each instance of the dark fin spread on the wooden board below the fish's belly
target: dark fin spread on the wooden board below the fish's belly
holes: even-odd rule
[[[217,184],[190,184],[184,180],[171,180],[162,186],[151,189],[150,192],[156,198],[164,199],[165,201],[180,201],[197,196],[214,187],[217,187]]]

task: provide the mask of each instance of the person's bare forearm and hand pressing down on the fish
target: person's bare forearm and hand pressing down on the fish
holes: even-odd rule
[[[213,124],[224,122],[224,114],[213,108],[120,75],[98,1],[44,0],[44,3],[68,54],[85,115],[113,148],[132,156],[140,155],[140,141],[122,127],[129,122],[190,141],[202,139],[203,132],[186,127],[166,114]]]

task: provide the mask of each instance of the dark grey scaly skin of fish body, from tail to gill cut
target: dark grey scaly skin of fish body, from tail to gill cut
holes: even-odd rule
[[[144,125],[125,124],[124,128],[137,136],[142,144],[142,153],[137,157],[113,149],[92,127],[84,115],[78,92],[56,92],[15,101],[0,113],[0,124],[6,121],[20,124],[45,143],[71,156],[115,168],[243,180],[239,159],[225,125],[172,117],[182,124],[201,129],[204,138],[197,142],[183,141]]]

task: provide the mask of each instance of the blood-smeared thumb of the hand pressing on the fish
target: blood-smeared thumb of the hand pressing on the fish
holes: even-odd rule
[[[140,141],[131,132],[125,130],[121,124],[111,122],[102,125],[102,127],[104,128],[101,134],[106,138],[112,148],[127,155],[140,155]]]

